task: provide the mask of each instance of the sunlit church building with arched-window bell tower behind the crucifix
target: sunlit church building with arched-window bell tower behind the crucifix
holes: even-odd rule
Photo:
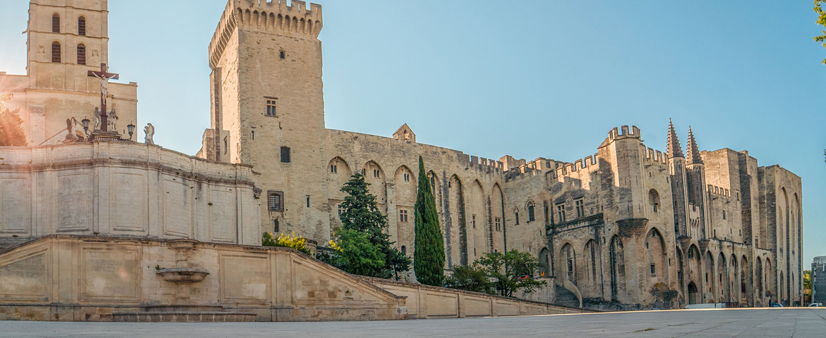
[[[107,0],[31,0],[26,75],[0,72],[0,94],[11,94],[7,106],[20,108],[28,145],[54,145],[66,138],[66,120],[82,135],[87,118],[92,131],[101,86],[88,76],[108,64]],[[118,73],[117,69],[112,69]],[[107,111],[117,116],[115,131],[124,138],[136,124],[137,83],[108,85]]]

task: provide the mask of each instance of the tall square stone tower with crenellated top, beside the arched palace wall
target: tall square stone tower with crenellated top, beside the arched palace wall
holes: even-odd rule
[[[230,0],[209,46],[211,129],[199,156],[253,164],[263,231],[329,238],[321,7]]]

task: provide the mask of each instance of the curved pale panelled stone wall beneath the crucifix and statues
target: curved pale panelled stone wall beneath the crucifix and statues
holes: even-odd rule
[[[258,174],[128,141],[0,148],[0,243],[50,234],[259,245]]]

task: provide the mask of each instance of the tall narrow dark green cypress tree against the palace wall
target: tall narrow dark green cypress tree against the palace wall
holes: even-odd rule
[[[415,251],[413,270],[419,283],[442,286],[444,283],[444,239],[436,202],[427,181],[425,161],[419,156],[419,192],[415,198]]]

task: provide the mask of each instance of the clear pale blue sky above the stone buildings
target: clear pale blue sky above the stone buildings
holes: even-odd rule
[[[683,146],[691,125],[700,149],[800,175],[804,266],[826,255],[826,50],[809,0],[318,2],[328,128],[408,123],[472,155],[573,161],[620,125],[665,150],[672,117]],[[225,3],[109,0],[111,70],[139,84],[159,145],[201,146]],[[28,2],[0,7],[0,71],[25,74]]]

